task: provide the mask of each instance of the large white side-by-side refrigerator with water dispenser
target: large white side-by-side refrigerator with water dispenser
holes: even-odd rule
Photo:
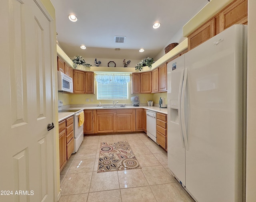
[[[168,63],[168,167],[198,202],[244,201],[246,25]]]

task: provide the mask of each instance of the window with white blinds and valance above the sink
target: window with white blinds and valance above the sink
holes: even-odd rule
[[[98,100],[128,99],[129,74],[96,73]]]

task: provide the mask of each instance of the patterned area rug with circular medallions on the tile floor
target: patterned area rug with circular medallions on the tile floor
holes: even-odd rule
[[[97,173],[141,168],[128,141],[100,143]]]

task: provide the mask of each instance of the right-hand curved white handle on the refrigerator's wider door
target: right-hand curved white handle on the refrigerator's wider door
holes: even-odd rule
[[[182,94],[180,99],[181,127],[182,127],[182,133],[184,135],[185,147],[186,147],[186,150],[188,151],[188,138],[187,138],[186,124],[185,124],[185,93],[187,88],[187,78],[188,78],[188,68],[186,68],[184,72],[183,88],[182,88]]]

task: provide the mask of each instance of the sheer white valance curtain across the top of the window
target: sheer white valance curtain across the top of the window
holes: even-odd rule
[[[96,81],[102,84],[108,84],[109,82],[126,84],[130,82],[130,74],[96,73]]]

